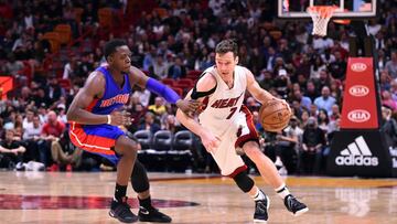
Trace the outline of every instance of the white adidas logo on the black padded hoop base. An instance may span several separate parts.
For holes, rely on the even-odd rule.
[[[378,158],[373,157],[363,136],[357,137],[354,142],[350,143],[346,149],[342,150],[341,156],[335,158],[335,162],[339,166],[363,167],[376,167],[379,163]]]

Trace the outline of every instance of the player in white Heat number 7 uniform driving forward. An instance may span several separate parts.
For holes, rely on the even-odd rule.
[[[204,71],[186,96],[186,99],[197,99],[203,105],[198,122],[181,110],[178,110],[176,118],[200,136],[222,174],[233,178],[238,188],[254,199],[255,222],[267,222],[270,201],[247,175],[247,166],[239,156],[242,152],[255,162],[261,177],[281,196],[288,211],[293,215],[309,211],[305,204],[290,194],[273,162],[260,151],[253,115],[243,105],[246,89],[262,104],[275,97],[259,87],[249,70],[237,65],[237,44],[234,41],[222,41],[216,45],[215,53],[216,65]],[[285,100],[282,103],[287,104]]]

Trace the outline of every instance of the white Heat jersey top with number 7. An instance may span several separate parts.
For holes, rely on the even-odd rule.
[[[238,116],[245,116],[240,113],[240,108],[247,88],[247,72],[243,66],[235,67],[232,88],[222,79],[215,66],[208,67],[204,73],[212,74],[217,85],[215,92],[204,99],[206,107],[198,115],[198,121],[221,137],[228,128],[236,125],[234,121]]]

